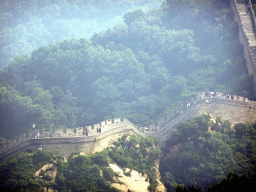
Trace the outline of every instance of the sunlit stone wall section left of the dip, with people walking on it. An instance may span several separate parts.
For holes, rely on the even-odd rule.
[[[92,134],[91,136],[82,135],[82,128],[66,129],[65,132],[63,130],[55,130],[54,133],[51,130],[44,130],[41,134],[43,137],[37,139],[34,139],[34,137],[27,138],[22,135],[20,137],[22,142],[13,141],[7,148],[0,150],[0,161],[8,159],[25,149],[34,150],[42,148],[42,150],[51,151],[66,157],[79,152],[85,154],[93,153],[106,148],[111,140],[115,140],[125,133],[142,134],[127,119],[114,119],[113,121],[105,122],[106,124],[100,123],[100,125],[104,125],[104,132],[101,134]],[[23,140],[23,137],[25,137],[25,140]]]

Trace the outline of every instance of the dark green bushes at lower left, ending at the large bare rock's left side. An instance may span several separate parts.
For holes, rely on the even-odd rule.
[[[0,166],[2,191],[44,191],[44,187],[59,191],[119,191],[107,182],[112,180],[114,172],[108,168],[107,156],[103,154],[78,156],[67,163],[63,157],[55,154],[36,151],[22,152]],[[54,163],[58,173],[52,181],[49,169],[41,171],[39,176],[35,172],[46,163]],[[100,176],[100,170],[104,177]],[[68,178],[68,179],[66,179]]]

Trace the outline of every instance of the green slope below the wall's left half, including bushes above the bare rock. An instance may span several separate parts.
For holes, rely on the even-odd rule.
[[[121,168],[137,170],[147,174],[150,189],[157,186],[155,161],[162,152],[155,147],[155,140],[148,137],[123,135],[113,145],[96,154],[74,154],[68,162],[63,157],[45,151],[24,151],[0,165],[1,191],[43,191],[44,187],[58,191],[111,191],[118,192],[112,183],[119,177],[109,167],[116,163]],[[52,164],[39,175],[35,172],[45,164]],[[50,171],[57,170],[55,178]],[[130,172],[127,173],[129,175]]]

